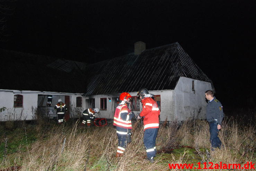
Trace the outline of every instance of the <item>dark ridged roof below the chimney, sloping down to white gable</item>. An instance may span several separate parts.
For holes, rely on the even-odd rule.
[[[87,66],[90,82],[84,95],[173,90],[180,77],[211,82],[178,42]]]

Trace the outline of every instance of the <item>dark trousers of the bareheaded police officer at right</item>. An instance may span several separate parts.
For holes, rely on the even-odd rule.
[[[213,148],[221,148],[221,141],[218,137],[219,130],[217,129],[217,124],[216,123],[210,123],[210,142],[211,142],[211,147]]]

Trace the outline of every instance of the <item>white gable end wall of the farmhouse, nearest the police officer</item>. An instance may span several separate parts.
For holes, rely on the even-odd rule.
[[[195,91],[192,90],[192,81],[194,81]],[[204,119],[206,112],[205,91],[211,89],[209,82],[180,77],[173,92],[176,106],[174,119],[178,121],[193,118]]]

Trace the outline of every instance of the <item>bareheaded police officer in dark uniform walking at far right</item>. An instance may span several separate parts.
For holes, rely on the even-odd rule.
[[[211,150],[214,151],[214,148],[221,148],[222,146],[218,133],[221,129],[221,122],[224,118],[224,113],[222,104],[214,97],[214,92],[212,90],[205,91],[205,98],[208,100],[206,107],[206,120],[210,124]]]

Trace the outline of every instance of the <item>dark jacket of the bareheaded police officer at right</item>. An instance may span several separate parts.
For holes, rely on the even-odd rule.
[[[221,124],[224,118],[222,104],[219,100],[213,97],[212,101],[208,101],[206,107],[206,120],[208,122],[216,121],[217,124]]]

